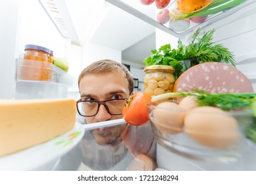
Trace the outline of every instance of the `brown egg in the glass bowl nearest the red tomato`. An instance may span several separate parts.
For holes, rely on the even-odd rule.
[[[183,131],[185,112],[176,103],[163,102],[153,110],[152,123],[161,132],[176,134]]]

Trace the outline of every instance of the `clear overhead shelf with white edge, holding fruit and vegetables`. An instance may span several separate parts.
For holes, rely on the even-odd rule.
[[[241,11],[243,8],[248,7],[249,5],[251,5],[252,3],[255,3],[255,1],[253,0],[247,0],[244,3],[237,5],[236,7],[233,7],[232,9],[229,9],[228,11],[223,11],[223,12],[219,12],[217,14],[211,14],[207,17],[207,19],[200,23],[194,23],[192,21],[190,21],[190,27],[184,31],[175,31],[172,30],[170,28],[168,28],[168,23],[166,24],[160,24],[159,22],[157,22],[156,20],[156,14],[157,12],[155,12],[155,14],[149,14],[149,9],[156,9],[155,5],[142,5],[140,3],[140,1],[138,1],[138,4],[132,4],[132,2],[127,1],[127,0],[105,0],[109,3],[111,3],[112,5],[115,5],[116,7],[140,18],[141,20],[151,24],[152,26],[155,26],[155,28],[158,28],[159,30],[162,30],[164,32],[166,32],[167,34],[173,35],[174,37],[184,37],[185,35],[188,35],[192,32],[194,32],[197,28],[205,28],[206,26],[209,26],[210,24],[213,24],[215,22],[222,22],[221,20],[223,18],[226,18],[228,16],[233,16],[234,13],[236,13],[237,11]],[[166,9],[171,10],[174,9],[174,7],[176,7],[176,3],[175,1],[172,1],[168,7],[166,7]],[[160,11],[160,9],[156,9],[157,11]]]

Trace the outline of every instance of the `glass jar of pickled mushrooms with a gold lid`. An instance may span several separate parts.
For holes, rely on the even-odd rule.
[[[166,65],[152,65],[144,69],[144,91],[152,96],[172,92],[174,86],[174,68]]]

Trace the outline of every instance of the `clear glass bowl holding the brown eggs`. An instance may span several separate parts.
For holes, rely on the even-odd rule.
[[[147,109],[157,143],[179,155],[200,159],[236,158],[251,147],[245,133],[253,123],[249,109],[193,114],[189,110],[150,104]]]

